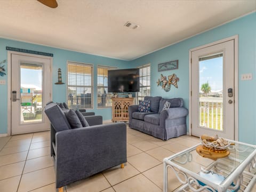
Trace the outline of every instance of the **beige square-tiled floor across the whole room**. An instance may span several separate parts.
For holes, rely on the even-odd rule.
[[[183,135],[162,141],[127,127],[127,163],[77,181],[65,191],[163,191],[163,158],[199,142]],[[0,191],[51,192],[55,189],[50,132],[0,138]],[[180,186],[169,171],[169,191]],[[256,191],[256,187],[254,188]]]

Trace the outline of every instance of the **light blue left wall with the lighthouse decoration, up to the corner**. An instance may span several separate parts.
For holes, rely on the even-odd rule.
[[[129,62],[110,59],[106,57],[100,57],[96,55],[90,55],[85,53],[78,53],[73,51],[55,49],[53,47],[35,45],[30,43],[23,43],[18,41],[11,41],[9,39],[0,38],[0,61],[7,59],[6,46],[17,47],[21,49],[41,51],[47,53],[53,53],[53,70],[52,70],[52,80],[53,80],[53,101],[55,102],[66,102],[66,89],[67,84],[55,85],[54,83],[58,81],[57,71],[61,68],[62,81],[66,83],[66,69],[67,61],[76,61],[91,63],[94,65],[94,109],[88,111],[95,111],[95,114],[102,115],[103,120],[111,119],[111,108],[97,109],[97,65],[103,66],[114,66],[118,68],[129,68]],[[5,64],[5,69],[7,64]],[[1,65],[2,66],[2,65]],[[7,71],[8,73],[8,71]],[[7,75],[4,77],[0,76],[0,79],[5,79],[6,85],[0,85],[0,134],[7,133]]]

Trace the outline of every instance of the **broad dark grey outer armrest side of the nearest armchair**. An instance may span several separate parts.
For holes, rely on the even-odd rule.
[[[127,162],[125,123],[60,131],[55,137],[57,188]]]

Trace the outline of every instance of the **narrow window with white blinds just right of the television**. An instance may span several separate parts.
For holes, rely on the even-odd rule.
[[[150,96],[150,65],[139,67],[140,69],[140,92],[138,93],[138,101]]]

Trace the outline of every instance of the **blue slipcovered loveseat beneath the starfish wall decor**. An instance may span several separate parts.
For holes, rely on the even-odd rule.
[[[129,107],[129,126],[132,129],[153,135],[162,140],[187,134],[186,116],[188,110],[183,106],[182,98],[164,99],[145,97],[150,101],[150,111],[139,112],[138,105]],[[169,109],[163,109],[164,103],[170,102]]]

